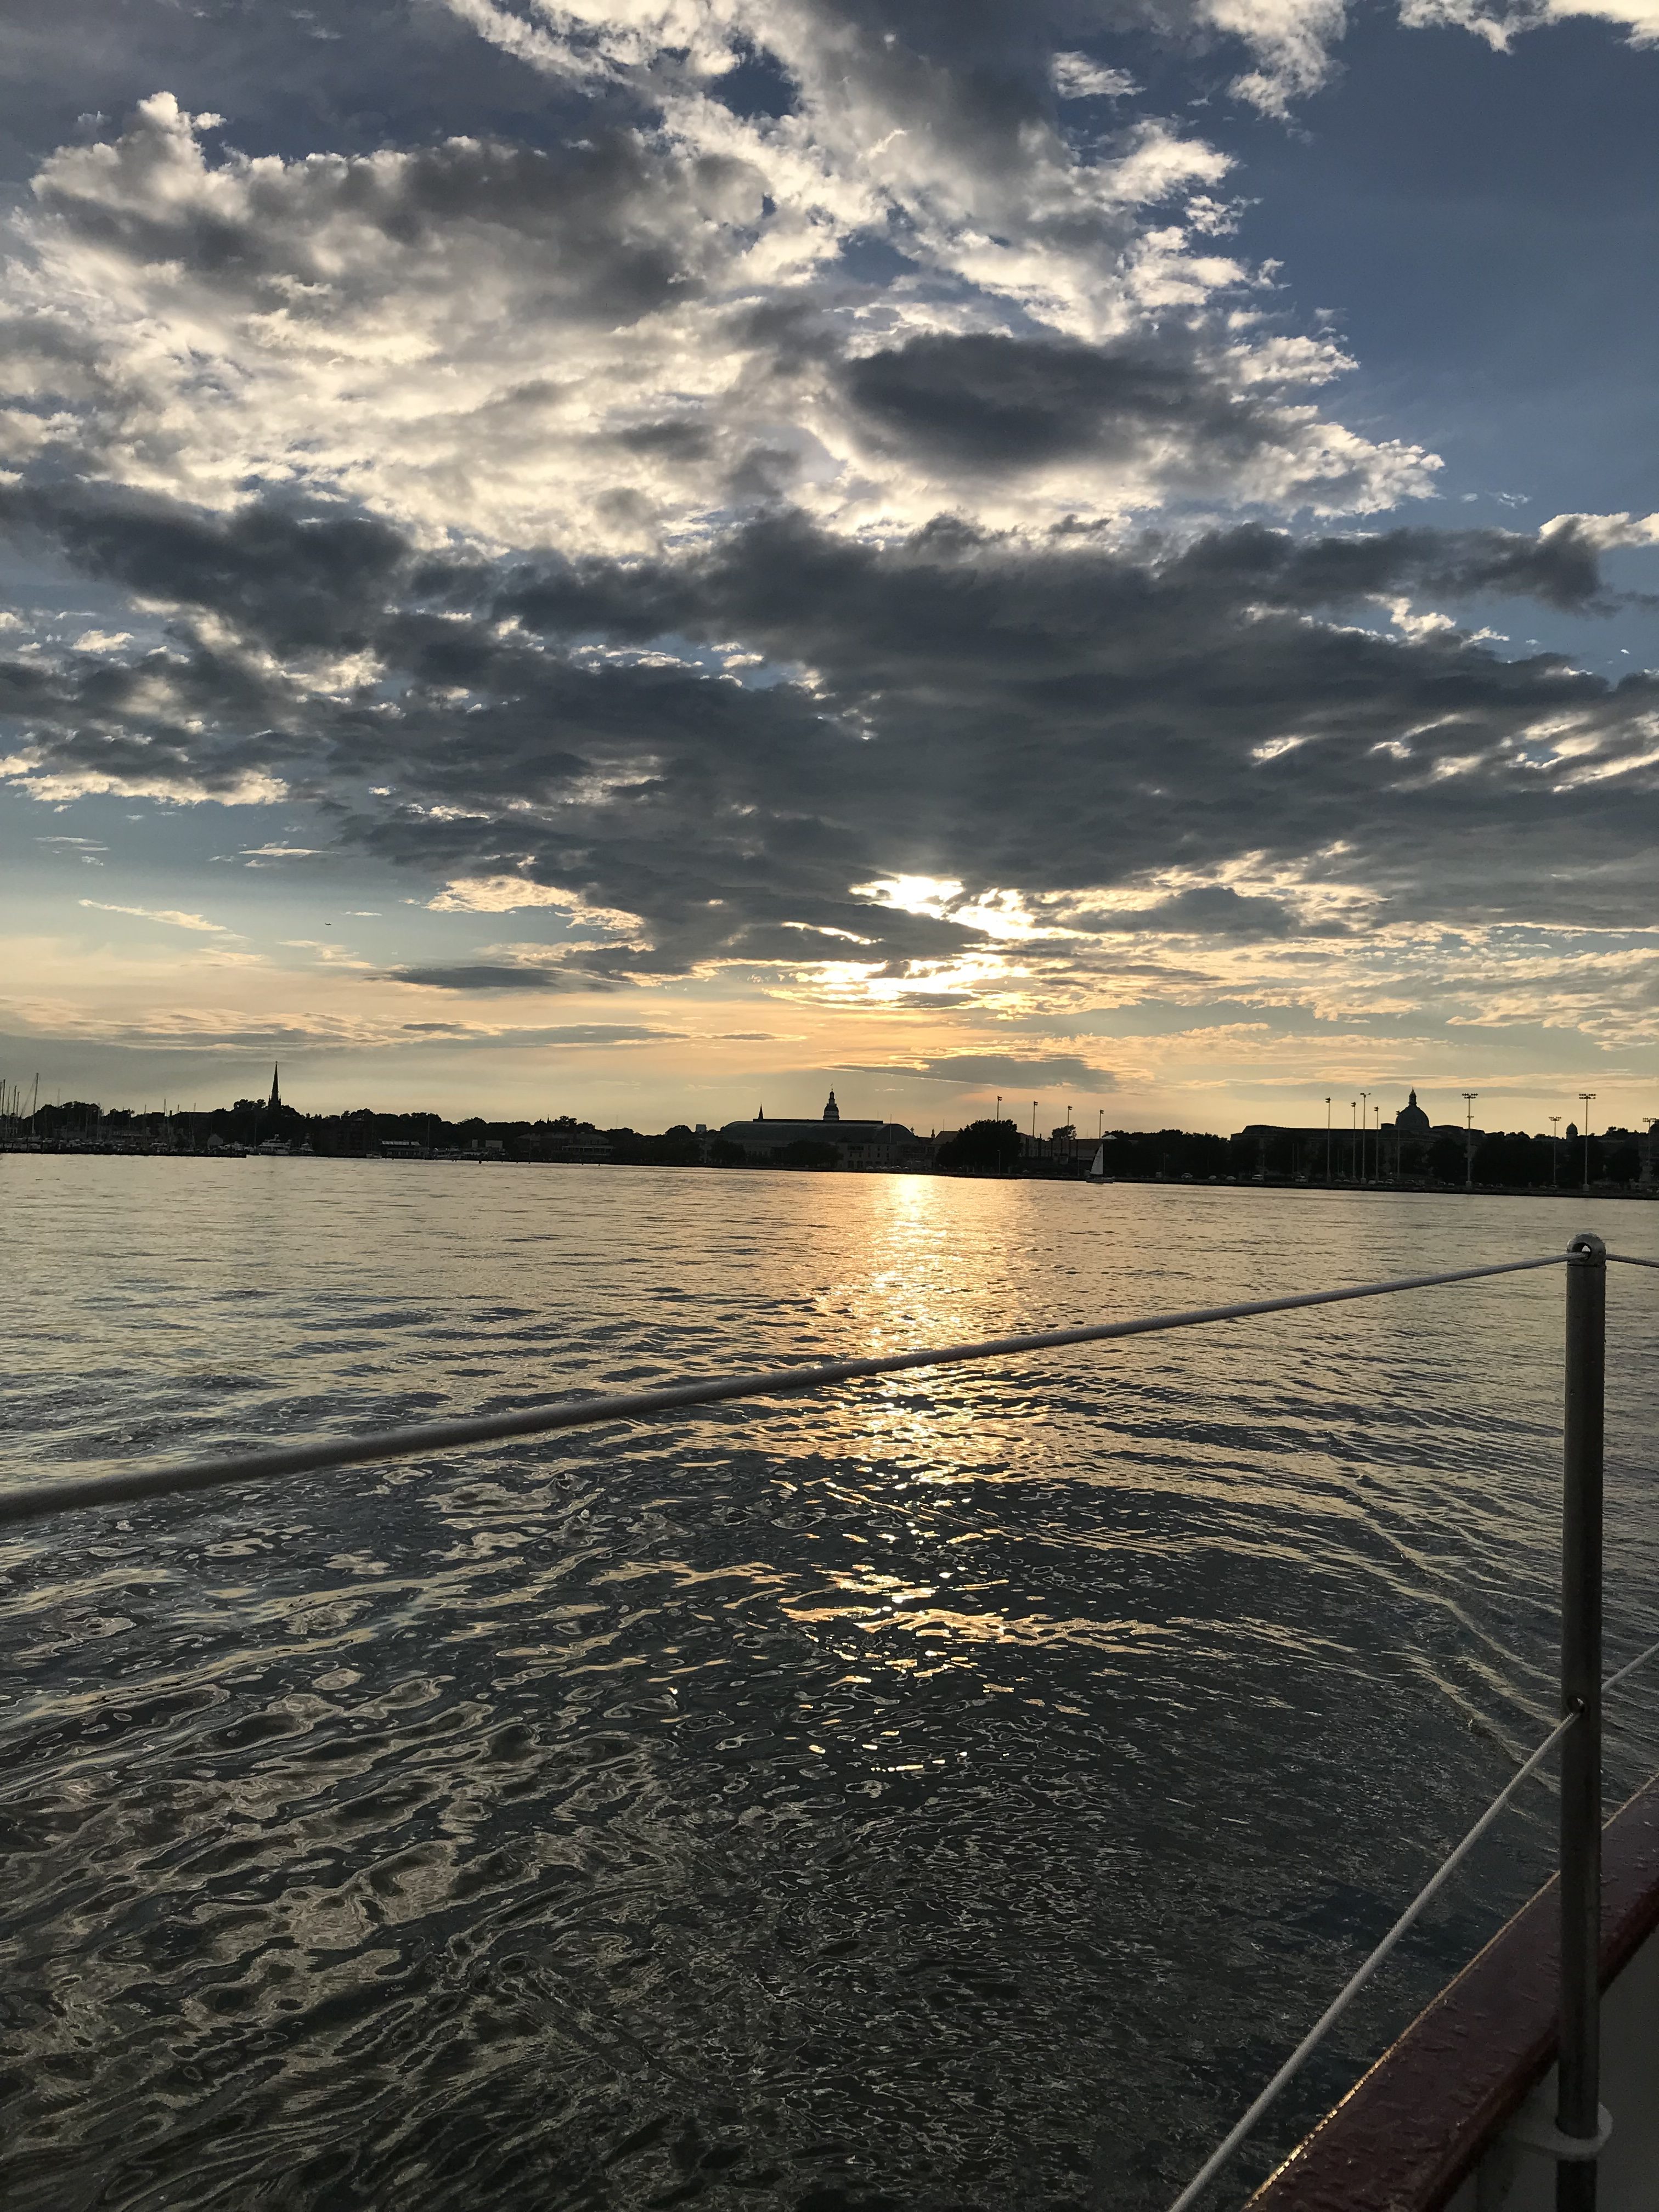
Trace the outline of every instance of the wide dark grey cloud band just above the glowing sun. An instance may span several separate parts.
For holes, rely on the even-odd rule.
[[[1177,896],[1079,925],[1276,936],[1279,896],[1203,880],[1243,856],[1411,918],[1652,918],[1659,684],[1327,619],[1427,588],[1593,606],[1573,531],[1243,529],[1133,553],[958,524],[883,549],[781,518],[679,560],[493,573],[343,518],[131,500],[93,518],[82,498],[62,518],[77,560],[153,591],[166,575],[181,611],[173,646],[133,666],[0,670],[40,774],[281,776],[425,880],[518,878],[641,918],[626,945],[562,947],[557,971],[411,982],[538,991],[701,960],[905,978],[991,942],[971,914],[852,891],[907,874],[1044,898],[1175,869]],[[29,520],[46,526],[46,504]],[[192,599],[243,644],[192,635]],[[748,688],[688,661],[734,641],[812,681]],[[296,644],[361,646],[383,677],[290,684],[268,655]],[[1020,958],[1071,953],[1035,940]]]

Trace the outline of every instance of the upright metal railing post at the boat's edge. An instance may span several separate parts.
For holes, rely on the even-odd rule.
[[[1555,2126],[1601,2132],[1601,1407],[1608,1254],[1568,1245],[1562,1489],[1562,2026]],[[1555,2212],[1595,2212],[1595,2157],[1555,2168]]]

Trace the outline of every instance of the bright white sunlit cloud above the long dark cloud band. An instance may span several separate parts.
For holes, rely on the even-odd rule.
[[[708,31],[701,62],[688,22]],[[779,498],[902,531],[940,478],[947,504],[960,489],[1004,524],[1117,515],[1170,487],[1321,511],[1425,487],[1431,456],[1310,403],[1345,365],[1327,343],[1256,330],[1261,274],[1221,250],[1228,157],[1150,115],[1068,137],[1015,11],[984,15],[982,53],[940,46],[920,11],[916,44],[807,4],[560,24],[571,82],[597,69],[606,113],[555,146],[246,157],[164,91],[51,153],[11,263],[27,405],[0,416],[0,460],[226,511],[248,487],[349,500],[434,546],[462,531],[613,551]],[[520,29],[544,58],[551,33]],[[741,51],[796,86],[790,115],[714,97]],[[1068,82],[1095,69],[1066,64]],[[854,274],[878,234],[914,285]],[[942,376],[925,349],[949,338],[984,356],[958,358],[964,405],[991,378],[1018,407],[1020,363],[984,354],[998,343],[1031,341],[1051,418],[1082,394],[1093,436],[1064,482],[987,476],[982,451],[940,440],[914,467],[885,436],[894,409],[927,411],[900,385]],[[296,635],[345,535],[314,531],[310,575],[294,571]],[[230,533],[223,555],[228,597],[261,549]]]

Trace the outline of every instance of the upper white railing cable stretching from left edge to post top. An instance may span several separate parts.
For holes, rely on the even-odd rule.
[[[310,1475],[327,1467],[356,1467],[369,1460],[407,1460],[429,1451],[456,1451],[462,1444],[489,1444],[513,1436],[549,1436],[555,1429],[588,1429],[599,1422],[639,1420],[650,1413],[672,1413],[690,1405],[719,1405],[730,1398],[787,1398],[796,1391],[825,1389],[832,1383],[905,1374],[914,1367],[953,1367],[962,1360],[989,1360],[1015,1352],[1055,1352],[1064,1345],[1104,1345],[1124,1336],[1152,1336],[1159,1329],[1194,1329],[1210,1321],[1250,1321],[1256,1314],[1294,1314],[1310,1305],[1387,1298],[1400,1290],[1436,1290],[1444,1283],[1475,1283],[1491,1274],[1526,1274],[1533,1267],[1559,1267],[1564,1261],[1566,1252],[1546,1252],[1540,1259],[1509,1259],[1489,1267],[1451,1267],[1444,1274],[1400,1274],[1383,1283],[1352,1283],[1343,1290],[1303,1290],[1287,1298],[1245,1298],[1237,1305],[1194,1305],[1179,1314],[1141,1314],[1137,1321],[1097,1321],[1077,1329],[991,1336],[973,1345],[883,1352],[860,1360],[781,1367],[772,1374],[708,1376],[703,1383],[670,1383],[664,1389],[628,1391],[619,1398],[562,1398],[557,1405],[529,1407],[518,1413],[473,1413],[462,1420],[420,1422],[409,1429],[383,1429],[372,1436],[290,1444],[279,1451],[243,1451],[219,1460],[195,1460],[184,1467],[139,1467],[113,1475],[22,1482],[15,1489],[0,1491],[0,1526],[42,1520],[49,1513],[69,1513],[77,1506],[131,1504],[139,1498],[212,1491],[230,1482],[261,1482],[274,1475]]]

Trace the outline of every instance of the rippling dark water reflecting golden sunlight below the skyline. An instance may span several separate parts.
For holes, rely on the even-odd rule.
[[[18,1475],[1557,1250],[1659,1210],[0,1161]],[[1613,1272],[1610,1648],[1659,1632]],[[1553,1703],[1555,1272],[0,1548],[0,2188],[1168,2201]],[[1659,1763],[1646,1697],[1610,1796]],[[1511,1816],[1237,2203],[1548,1867]]]

